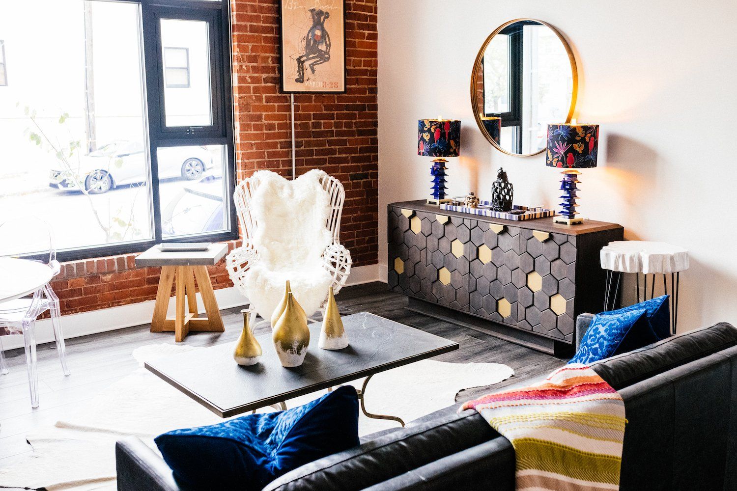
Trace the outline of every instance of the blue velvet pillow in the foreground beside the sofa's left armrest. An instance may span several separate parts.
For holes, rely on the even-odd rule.
[[[356,389],[342,386],[294,409],[170,431],[155,441],[182,484],[261,490],[303,464],[359,445]]]

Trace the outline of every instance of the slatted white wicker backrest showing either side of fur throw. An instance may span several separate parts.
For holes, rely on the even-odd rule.
[[[320,183],[329,196],[330,215],[325,226],[330,230],[332,240],[340,243],[340,217],[343,215],[343,202],[346,201],[346,191],[343,184],[335,177],[325,175]],[[256,228],[259,226],[251,214],[251,199],[256,189],[259,188],[261,180],[258,174],[247,177],[238,183],[233,194],[235,208],[238,213],[238,221],[243,229],[243,239],[253,239]]]

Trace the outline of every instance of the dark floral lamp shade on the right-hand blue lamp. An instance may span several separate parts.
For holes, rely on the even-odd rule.
[[[545,165],[562,169],[596,166],[598,124],[548,124]]]

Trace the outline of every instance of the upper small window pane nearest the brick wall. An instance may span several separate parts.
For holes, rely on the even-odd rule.
[[[161,19],[161,45],[189,51],[189,86],[164,88],[164,110],[168,127],[210,126],[209,24],[206,21]],[[164,56],[166,49],[164,48]],[[181,77],[181,75],[179,76]]]

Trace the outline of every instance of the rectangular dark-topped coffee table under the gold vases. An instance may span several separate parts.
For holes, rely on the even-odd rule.
[[[458,349],[456,342],[368,312],[343,317],[343,326],[349,347],[321,350],[321,324],[312,323],[307,356],[296,368],[282,367],[270,334],[256,336],[264,354],[252,367],[235,363],[233,343],[166,356],[144,365],[220,417],[280,403],[284,409],[284,400],[366,377],[359,392],[363,414],[404,426],[399,417],[366,411],[363,399],[371,376]]]

